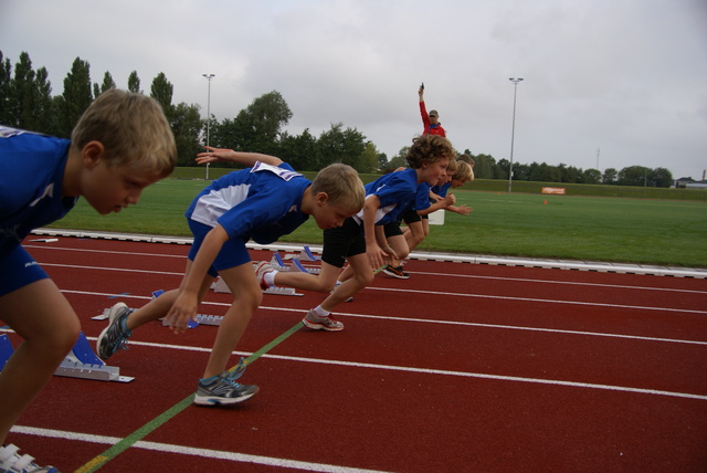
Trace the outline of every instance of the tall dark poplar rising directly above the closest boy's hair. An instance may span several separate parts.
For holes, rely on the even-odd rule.
[[[60,137],[68,138],[71,132],[78,122],[88,105],[93,102],[91,95],[91,65],[81,57],[74,60],[71,72],[64,78],[64,92],[57,97]]]

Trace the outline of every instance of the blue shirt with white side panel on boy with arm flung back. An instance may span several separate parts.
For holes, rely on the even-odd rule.
[[[309,216],[302,197],[312,182],[287,162],[230,172],[203,189],[186,217],[204,225],[220,224],[229,238],[267,244],[292,233]]]

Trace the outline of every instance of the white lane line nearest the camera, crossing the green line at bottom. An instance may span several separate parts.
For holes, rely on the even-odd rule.
[[[70,432],[64,430],[54,429],[39,429],[34,427],[14,425],[10,429],[14,433],[23,433],[27,435],[36,435],[51,439],[64,439],[87,443],[99,443],[106,445],[115,445],[123,439],[117,437],[95,435],[91,433]],[[160,442],[146,442],[140,440],[131,445],[131,448],[165,452],[177,453],[181,455],[202,456],[213,460],[229,460],[238,463],[255,463],[260,465],[278,466],[286,469],[303,470],[308,472],[321,472],[321,473],[383,473],[379,470],[363,470],[349,466],[338,466],[326,463],[310,463],[302,462],[297,460],[279,459],[275,456],[251,455],[246,453],[226,452],[222,450],[211,449],[194,449],[192,446],[176,445],[171,443]]]

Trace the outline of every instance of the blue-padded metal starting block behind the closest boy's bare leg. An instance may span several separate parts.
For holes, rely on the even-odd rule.
[[[0,368],[4,368],[6,362],[12,356],[14,349],[7,335],[0,335]],[[135,378],[130,376],[120,376],[120,368],[107,366],[101,358],[93,353],[86,335],[83,332],[78,334],[78,339],[72,350],[61,362],[55,376],[65,376],[68,378],[96,379],[99,381],[119,381],[130,382]]]

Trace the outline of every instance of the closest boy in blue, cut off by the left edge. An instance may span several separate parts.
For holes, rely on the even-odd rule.
[[[78,317],[21,245],[84,197],[107,214],[136,204],[171,174],[175,138],[150,97],[107,91],[84,112],[71,141],[0,126],[0,318],[24,341],[0,374],[0,443],[78,337]],[[0,448],[0,471],[34,471],[30,455]],[[56,471],[46,466],[42,471]]]

